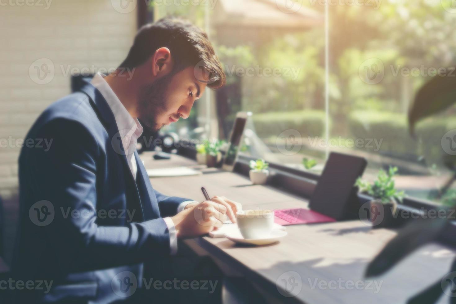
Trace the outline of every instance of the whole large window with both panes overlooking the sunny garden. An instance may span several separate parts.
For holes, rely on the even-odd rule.
[[[451,1],[212,2],[155,7],[156,17],[205,28],[228,77],[175,126],[181,135],[226,139],[236,113],[251,111],[245,155],[315,173],[331,151],[359,155],[368,180],[397,166],[408,196],[454,200],[444,135],[456,129],[456,109],[422,121],[416,138],[407,120],[420,87],[456,65]]]

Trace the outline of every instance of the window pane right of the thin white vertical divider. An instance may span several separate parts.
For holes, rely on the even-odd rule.
[[[440,0],[368,2],[329,6],[331,149],[365,157],[365,179],[397,166],[408,196],[448,202],[456,192],[441,141],[454,110],[418,124],[416,139],[408,111],[430,77],[455,66],[456,11]]]

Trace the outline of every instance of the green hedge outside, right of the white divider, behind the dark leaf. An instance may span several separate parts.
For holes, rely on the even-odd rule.
[[[404,114],[376,111],[354,111],[348,118],[348,126],[353,138],[383,139],[378,153],[406,160],[425,157],[428,164],[440,163],[442,136],[455,123],[450,119],[427,119],[416,127],[417,139],[409,134],[407,116]],[[370,151],[373,149],[362,148]]]

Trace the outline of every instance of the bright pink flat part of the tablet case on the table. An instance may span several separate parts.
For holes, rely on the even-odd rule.
[[[275,210],[274,215],[274,222],[282,226],[336,222],[332,217],[303,208]]]

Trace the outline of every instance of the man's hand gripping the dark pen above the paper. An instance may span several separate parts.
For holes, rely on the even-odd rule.
[[[227,207],[213,201],[203,201],[171,217],[177,237],[196,237],[222,227]],[[231,212],[233,212],[230,209]]]

